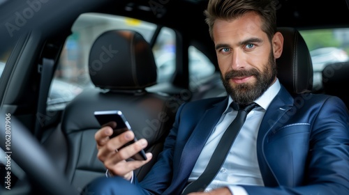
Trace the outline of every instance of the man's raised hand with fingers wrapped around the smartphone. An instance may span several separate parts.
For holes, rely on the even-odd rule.
[[[112,124],[112,127],[116,124]],[[133,140],[135,134],[132,131],[126,131],[119,136],[110,139],[112,135],[112,127],[106,126],[98,130],[95,134],[95,139],[97,143],[98,154],[97,157],[104,166],[112,173],[114,176],[121,176],[126,180],[131,180],[133,176],[133,170],[140,168],[147,162],[151,160],[151,153],[147,153],[147,160],[132,160],[126,161],[140,150],[147,147],[147,140],[140,139],[135,143],[121,148],[128,141]],[[119,149],[121,148],[121,149]]]

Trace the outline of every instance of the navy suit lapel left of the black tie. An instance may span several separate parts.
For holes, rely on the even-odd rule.
[[[218,123],[223,111],[225,111],[227,104],[228,98],[225,98],[222,102],[214,104],[211,109],[207,109],[205,114],[202,115],[198,125],[195,127],[191,137],[189,137],[184,146],[178,166],[179,169],[177,172],[174,172],[174,179],[166,192],[171,192],[171,190],[181,190],[184,188],[202,148],[204,148],[209,135],[214,129],[216,123]],[[173,187],[176,189],[172,189]]]

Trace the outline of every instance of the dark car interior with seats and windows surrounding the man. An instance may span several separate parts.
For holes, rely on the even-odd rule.
[[[147,139],[154,157],[136,171],[142,180],[179,106],[226,95],[207,2],[0,1],[0,194],[88,194],[106,171],[94,140],[101,110],[121,110]],[[348,107],[349,1],[276,3],[281,84]],[[311,50],[334,46],[344,57],[316,69]]]

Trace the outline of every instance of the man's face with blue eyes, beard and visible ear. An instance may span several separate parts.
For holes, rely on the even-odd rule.
[[[260,17],[253,12],[214,23],[214,44],[223,85],[239,104],[259,98],[276,78],[275,59],[281,55],[282,36],[277,33],[270,42],[261,25]]]

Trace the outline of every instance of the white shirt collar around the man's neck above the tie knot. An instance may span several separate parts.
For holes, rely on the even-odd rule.
[[[270,86],[265,93],[263,93],[260,98],[255,100],[257,104],[260,105],[263,109],[267,110],[269,107],[269,104],[272,102],[272,100],[275,98],[275,96],[279,93],[281,88],[281,84],[278,78],[276,78],[276,81],[272,86]],[[225,112],[228,111],[228,108],[230,107],[230,104],[232,103],[232,97],[229,95],[228,105],[225,109]]]

